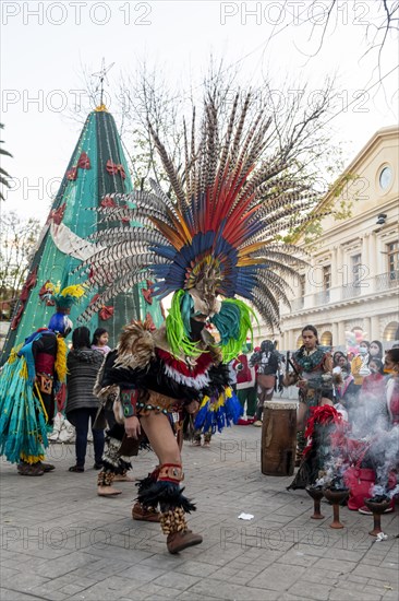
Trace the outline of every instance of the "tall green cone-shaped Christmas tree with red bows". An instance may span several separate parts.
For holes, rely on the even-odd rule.
[[[86,238],[102,227],[98,213],[90,209],[107,205],[107,195],[130,191],[132,181],[116,122],[101,105],[86,119],[41,231],[5,339],[2,363],[13,346],[36,329],[48,325],[55,307],[41,300],[46,283],[60,283],[61,287],[80,283],[81,276],[72,272],[90,254],[90,243]],[[97,327],[106,328],[112,345],[121,328],[132,319],[149,317],[159,326],[162,321],[161,308],[147,294],[149,285],[144,282],[129,294],[120,294],[93,316],[87,323],[92,333]],[[92,300],[93,293],[72,308],[71,319],[75,326],[76,318]]]

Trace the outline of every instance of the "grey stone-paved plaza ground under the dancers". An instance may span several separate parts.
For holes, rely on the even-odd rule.
[[[1,463],[2,601],[188,599],[295,601],[398,600],[398,506],[382,517],[388,539],[368,535],[371,516],[341,508],[346,528],[332,530],[331,507],[312,520],[304,491],[291,478],[261,473],[261,428],[234,426],[211,446],[183,449],[186,494],[197,503],[191,528],[203,544],[167,552],[159,525],[131,519],[135,486],[96,495],[92,448],[85,473],[70,473],[73,445],[53,445],[56,471],[23,478]],[[142,478],[155,466],[135,460]],[[251,521],[238,519],[252,514]]]

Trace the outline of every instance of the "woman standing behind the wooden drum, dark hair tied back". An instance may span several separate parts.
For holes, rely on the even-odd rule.
[[[319,345],[314,326],[303,328],[302,340],[302,346],[291,357],[294,372],[289,372],[288,365],[283,378],[283,386],[297,385],[299,388],[297,466],[301,462],[305,447],[304,429],[310,408],[334,404],[331,354]]]

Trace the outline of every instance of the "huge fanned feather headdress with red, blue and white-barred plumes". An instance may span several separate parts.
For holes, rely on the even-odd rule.
[[[183,291],[176,313],[185,333],[184,314],[194,310],[214,316],[222,344],[231,343],[245,310],[251,325],[235,296],[250,300],[268,326],[278,327],[279,300],[288,303],[286,278],[297,276],[303,261],[277,234],[309,219],[315,195],[295,177],[288,148],[270,153],[271,119],[263,111],[253,115],[251,94],[241,107],[239,99],[238,94],[225,129],[215,99],[205,102],[200,140],[194,111],[191,135],[184,125],[181,174],[149,125],[171,197],[150,180],[152,192],[110,195],[107,207],[97,209],[104,221],[119,225],[92,237],[94,254],[80,267],[87,269],[88,283],[101,290],[84,319],[147,279],[155,281],[152,294],[158,298]]]

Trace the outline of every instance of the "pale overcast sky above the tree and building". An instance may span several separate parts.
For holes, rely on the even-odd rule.
[[[133,72],[143,60],[159,66],[172,85],[200,86],[210,54],[233,64],[244,85],[265,78],[277,90],[285,80],[299,87],[309,82],[310,94],[336,74],[341,106],[331,121],[332,141],[349,163],[377,129],[398,122],[397,39],[387,37],[380,67],[383,75],[391,73],[383,86],[375,85],[377,52],[362,56],[379,0],[339,2],[337,20],[316,52],[328,4],[321,0],[311,11],[310,0],[3,0],[2,140],[13,158],[2,166],[15,177],[7,210],[41,221],[47,216],[82,127],[70,118],[83,94],[82,66],[98,71],[102,57],[106,64],[114,62],[111,89],[120,73]]]

